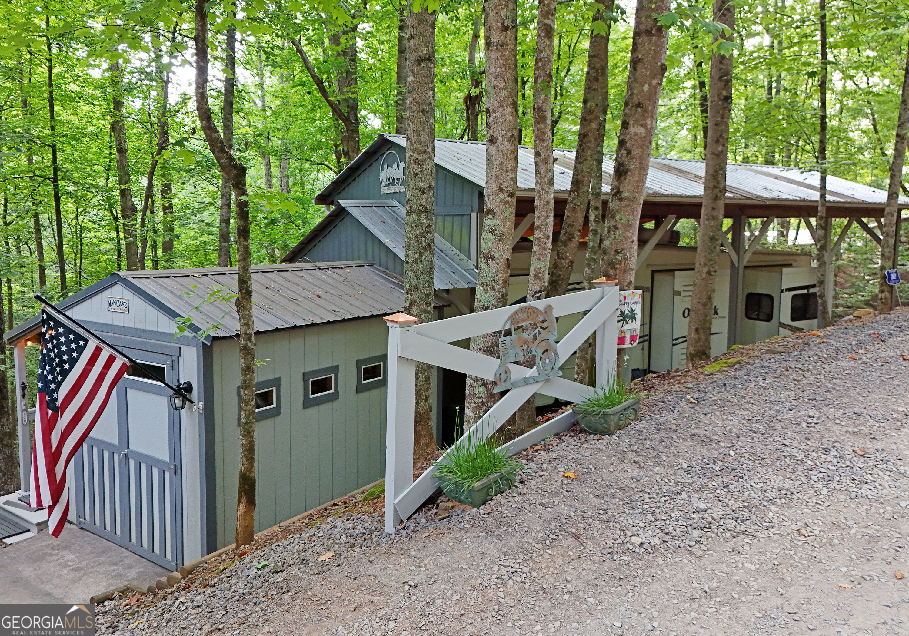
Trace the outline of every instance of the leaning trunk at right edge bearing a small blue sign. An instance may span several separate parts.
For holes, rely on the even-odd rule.
[[[889,312],[894,306],[894,288],[887,283],[886,271],[896,269],[899,264],[899,243],[896,240],[896,223],[900,217],[897,204],[900,199],[900,184],[903,182],[903,165],[906,157],[906,141],[909,136],[909,48],[903,71],[903,93],[900,110],[896,118],[894,139],[894,160],[890,164],[890,184],[887,186],[887,202],[884,204],[884,235],[881,237],[881,271],[877,281],[877,309]]]

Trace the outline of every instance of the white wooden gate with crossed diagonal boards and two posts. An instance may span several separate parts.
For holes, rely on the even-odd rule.
[[[433,323],[416,324],[405,313],[388,316],[388,412],[385,450],[385,532],[407,519],[438,488],[433,471],[414,481],[414,400],[416,363],[435,364],[485,380],[494,379],[499,366],[496,358],[454,346],[454,341],[483,333],[498,332],[505,321],[522,306],[543,310],[552,305],[555,317],[586,312],[558,343],[559,360],[564,363],[587,337],[596,332],[596,384],[603,386],[615,369],[616,315],[619,289],[615,281],[601,278],[594,289],[545,298],[524,305],[501,307],[488,312],[469,313]],[[509,364],[513,378],[533,373],[517,364]],[[484,440],[517,411],[534,393],[545,393],[568,402],[580,402],[593,393],[593,388],[562,377],[517,386],[495,403],[469,433],[474,440]],[[454,446],[464,443],[466,433]],[[447,454],[447,453],[446,453]]]

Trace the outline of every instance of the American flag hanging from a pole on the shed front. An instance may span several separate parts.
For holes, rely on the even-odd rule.
[[[46,308],[41,326],[31,505],[47,508],[48,529],[59,537],[69,512],[66,467],[129,363]]]

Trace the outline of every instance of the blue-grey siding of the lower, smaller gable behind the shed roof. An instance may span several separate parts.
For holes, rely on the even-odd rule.
[[[355,216],[346,211],[337,223],[322,233],[315,245],[305,253],[302,261],[306,263],[369,261],[389,272],[404,275],[404,261],[357,221]]]

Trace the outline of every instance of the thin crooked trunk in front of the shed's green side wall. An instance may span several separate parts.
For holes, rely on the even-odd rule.
[[[208,104],[208,14],[205,0],[195,0],[195,110],[221,171],[234,189],[236,207],[236,313],[240,322],[240,470],[236,492],[237,546],[253,542],[255,523],[255,325],[253,274],[249,250],[249,200],[246,166],[236,160],[215,127]]]

